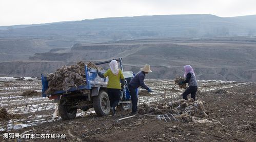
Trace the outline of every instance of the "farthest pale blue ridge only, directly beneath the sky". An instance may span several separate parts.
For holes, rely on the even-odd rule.
[[[100,18],[0,27],[0,37],[65,37],[105,42],[160,37],[255,36],[255,19],[256,15],[224,18],[209,14]]]

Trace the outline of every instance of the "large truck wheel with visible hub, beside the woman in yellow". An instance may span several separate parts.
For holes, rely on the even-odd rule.
[[[93,97],[93,107],[98,116],[109,114],[110,101],[105,91],[100,91],[98,96]]]

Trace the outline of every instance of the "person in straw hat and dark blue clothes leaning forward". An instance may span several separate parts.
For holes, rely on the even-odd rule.
[[[150,70],[150,65],[148,64],[144,65],[144,67],[141,68],[141,71],[137,73],[128,84],[128,89],[130,91],[131,102],[132,102],[132,112],[131,112],[132,114],[137,114],[138,98],[136,94],[136,88],[139,88],[141,86],[142,88],[148,90],[148,92],[152,92],[152,90],[144,84],[144,79],[146,74],[151,72],[152,71]]]

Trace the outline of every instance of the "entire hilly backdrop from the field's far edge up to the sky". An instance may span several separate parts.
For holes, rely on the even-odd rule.
[[[154,15],[0,27],[0,76],[40,76],[77,61],[123,58],[152,79],[183,66],[200,80],[256,81],[256,15]]]

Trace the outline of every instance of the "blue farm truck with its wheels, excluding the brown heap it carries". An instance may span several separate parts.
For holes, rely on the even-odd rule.
[[[123,71],[122,58],[115,59],[120,63],[120,67]],[[111,60],[105,62],[95,63],[95,65],[101,65],[110,63]],[[106,70],[102,70],[105,73]],[[134,73],[123,72],[125,77],[125,88],[121,91],[119,109],[128,110],[131,109],[131,99],[128,91],[127,84],[133,78]],[[108,78],[100,78],[97,75],[95,68],[88,68],[85,66],[86,84],[72,87],[68,91],[57,90],[51,94],[47,94],[48,89],[47,78],[42,74],[42,96],[54,99],[55,103],[58,103],[58,111],[62,120],[74,119],[77,113],[77,109],[87,111],[89,108],[94,108],[98,116],[108,115],[110,112],[110,101],[107,94]]]

